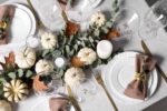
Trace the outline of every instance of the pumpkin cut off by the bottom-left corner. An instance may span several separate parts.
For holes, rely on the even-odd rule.
[[[0,111],[11,111],[11,105],[4,100],[0,100]]]

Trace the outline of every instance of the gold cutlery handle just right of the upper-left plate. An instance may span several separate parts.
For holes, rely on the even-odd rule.
[[[38,27],[39,27],[39,28],[45,28],[45,24],[43,24],[43,23],[39,20],[39,18],[37,17],[37,13],[36,13],[36,11],[35,11],[35,8],[33,8],[32,3],[31,3],[31,0],[27,0],[27,2],[28,2],[29,7],[30,7],[30,10],[32,11],[32,13],[33,13],[33,16],[35,16],[35,18],[36,18],[36,21],[38,22]]]

